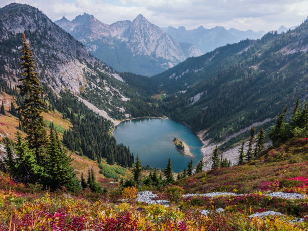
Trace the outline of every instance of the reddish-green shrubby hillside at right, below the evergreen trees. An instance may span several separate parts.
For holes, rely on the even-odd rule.
[[[198,173],[177,181],[186,193],[285,191],[307,193],[308,138],[288,141],[260,158],[229,168]],[[294,179],[293,179],[294,178]],[[287,180],[293,179],[293,180]]]

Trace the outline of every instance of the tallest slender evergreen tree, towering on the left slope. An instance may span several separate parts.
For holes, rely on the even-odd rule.
[[[23,48],[21,50],[23,56],[21,59],[21,66],[23,69],[22,82],[19,85],[20,94],[23,97],[23,105],[18,109],[22,114],[22,125],[24,131],[27,133],[27,140],[30,148],[35,149],[37,163],[40,163],[40,152],[47,143],[45,122],[42,112],[46,111],[46,106],[42,99],[44,94],[38,80],[38,73],[34,71],[36,68],[36,60],[30,48],[25,34],[23,34]]]

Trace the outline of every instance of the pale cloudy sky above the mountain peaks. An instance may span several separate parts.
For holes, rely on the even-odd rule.
[[[0,0],[0,7],[12,1]],[[308,16],[307,0],[14,0],[42,10],[53,21],[84,12],[110,24],[143,14],[160,26],[224,26],[240,30],[277,30],[299,25]]]

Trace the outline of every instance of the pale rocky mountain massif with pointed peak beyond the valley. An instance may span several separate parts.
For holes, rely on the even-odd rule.
[[[143,75],[160,73],[187,57],[199,56],[197,46],[179,43],[143,15],[107,25],[84,13],[72,21],[55,21],[83,43],[89,52],[117,71]]]

